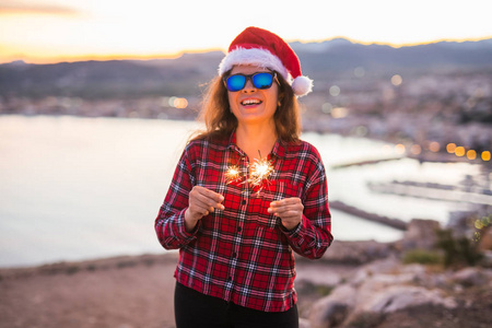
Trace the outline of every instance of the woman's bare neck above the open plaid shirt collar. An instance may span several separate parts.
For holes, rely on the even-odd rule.
[[[274,124],[239,125],[236,129],[237,145],[248,155],[249,161],[266,159],[277,141]]]

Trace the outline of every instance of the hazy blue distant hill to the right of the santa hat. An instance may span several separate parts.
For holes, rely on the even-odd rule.
[[[461,70],[492,68],[492,39],[480,42],[441,42],[394,48],[387,45],[361,45],[347,39],[318,44],[294,43],[303,70],[316,74],[340,73],[363,67],[366,71]]]

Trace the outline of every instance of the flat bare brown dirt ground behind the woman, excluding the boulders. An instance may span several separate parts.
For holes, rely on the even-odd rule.
[[[174,327],[177,254],[0,270],[0,328]],[[298,261],[300,312],[353,267]],[[306,294],[303,298],[302,293]],[[305,308],[305,307],[304,307]]]

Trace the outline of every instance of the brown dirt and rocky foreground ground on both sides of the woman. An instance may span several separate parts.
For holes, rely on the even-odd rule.
[[[492,270],[403,265],[397,244],[297,259],[302,328],[489,327]],[[174,327],[176,253],[0,270],[0,327]]]

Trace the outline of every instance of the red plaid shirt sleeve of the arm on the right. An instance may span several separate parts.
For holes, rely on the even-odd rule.
[[[316,166],[303,200],[302,222],[292,231],[281,227],[294,251],[311,259],[320,258],[333,241],[325,167],[320,161]]]

